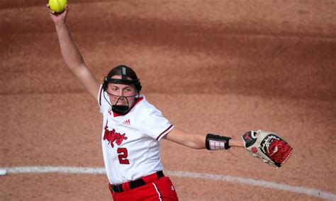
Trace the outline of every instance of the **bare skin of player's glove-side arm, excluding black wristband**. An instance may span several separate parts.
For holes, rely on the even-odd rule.
[[[176,142],[193,149],[206,149],[206,137],[207,136],[204,134],[191,134],[174,127],[173,130],[164,136],[164,139],[168,139],[169,141]],[[240,137],[231,137],[230,140],[228,140],[228,146],[244,148],[244,142]],[[223,149],[224,148],[225,147],[223,147]]]

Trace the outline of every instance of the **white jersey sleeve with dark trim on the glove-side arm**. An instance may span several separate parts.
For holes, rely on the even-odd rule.
[[[145,113],[141,125],[144,134],[158,141],[174,128],[169,120],[162,116],[162,112],[156,108]]]

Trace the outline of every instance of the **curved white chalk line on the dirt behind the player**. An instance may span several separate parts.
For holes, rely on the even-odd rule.
[[[28,167],[3,167],[7,173],[84,173],[84,174],[105,174],[105,168],[82,168],[82,167],[53,167],[53,166],[28,166]],[[283,183],[274,183],[265,180],[256,180],[251,178],[241,178],[236,176],[223,176],[209,173],[193,173],[189,171],[164,171],[169,176],[201,178],[206,180],[220,180],[244,185],[257,185],[262,188],[271,188],[276,190],[285,190],[293,193],[301,193],[313,197],[320,197],[327,200],[336,200],[336,195],[315,188],[306,188],[303,186],[293,186]]]

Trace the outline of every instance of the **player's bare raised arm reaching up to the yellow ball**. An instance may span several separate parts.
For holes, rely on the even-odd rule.
[[[48,6],[48,5],[47,5]],[[72,35],[67,27],[67,13],[69,7],[65,7],[62,13],[55,13],[50,10],[50,17],[55,23],[57,38],[60,42],[60,49],[63,59],[67,67],[74,73],[74,75],[83,84],[86,91],[88,91],[94,98],[99,93],[99,81],[97,81],[87,69],[82,54],[79,52],[77,45],[72,39]]]

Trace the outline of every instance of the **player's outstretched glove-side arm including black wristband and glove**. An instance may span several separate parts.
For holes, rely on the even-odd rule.
[[[245,148],[252,156],[263,162],[280,168],[293,153],[293,148],[279,134],[268,131],[249,131],[239,139],[215,134],[190,134],[174,127],[164,136],[172,142],[194,149],[230,149],[230,147]]]

